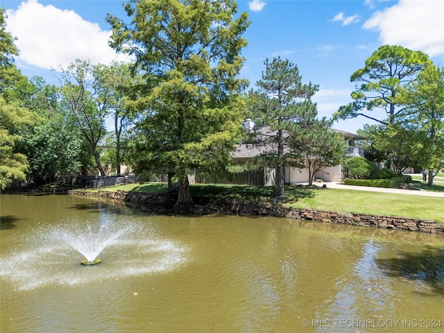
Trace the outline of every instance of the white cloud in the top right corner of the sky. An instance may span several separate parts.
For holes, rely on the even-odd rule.
[[[379,31],[382,44],[401,45],[429,56],[444,54],[444,2],[400,0],[362,26]]]

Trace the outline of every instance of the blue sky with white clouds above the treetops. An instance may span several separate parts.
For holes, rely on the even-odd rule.
[[[19,69],[27,76],[43,76],[56,83],[51,68],[66,67],[76,58],[109,63],[117,56],[107,45],[110,12],[125,17],[119,0],[11,1],[7,30],[17,37]],[[332,117],[351,101],[355,83],[350,75],[383,44],[427,53],[444,66],[444,1],[442,0],[250,0],[238,1],[251,25],[244,34],[248,46],[241,75],[254,87],[264,71],[264,60],[288,58],[299,67],[302,82],[317,84],[314,96],[320,117]],[[360,117],[334,123],[334,128],[356,132]]]

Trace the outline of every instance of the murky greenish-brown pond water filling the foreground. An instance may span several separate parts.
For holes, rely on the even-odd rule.
[[[440,235],[0,200],[1,332],[444,332]]]

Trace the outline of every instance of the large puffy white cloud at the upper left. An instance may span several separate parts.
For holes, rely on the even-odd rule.
[[[17,10],[7,11],[8,31],[17,37],[17,58],[25,65],[43,69],[67,67],[76,59],[108,64],[125,60],[108,46],[111,31],[85,21],[73,10],[43,6],[37,0],[22,2]]]

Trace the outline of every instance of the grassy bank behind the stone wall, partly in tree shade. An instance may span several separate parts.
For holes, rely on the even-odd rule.
[[[193,196],[207,196],[227,201],[250,201],[256,203],[280,203],[274,197],[276,187],[248,187],[238,185],[191,185]],[[167,193],[167,184],[130,184],[102,188],[105,191],[140,191],[144,193]],[[350,212],[382,216],[411,217],[437,221],[444,224],[443,198],[389,194],[350,189],[314,189],[307,187],[286,187],[287,207]]]

